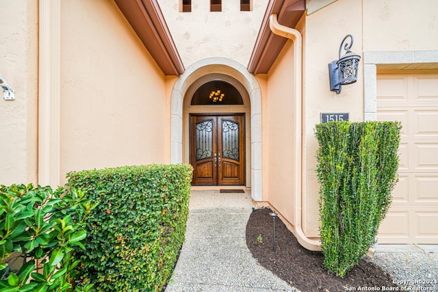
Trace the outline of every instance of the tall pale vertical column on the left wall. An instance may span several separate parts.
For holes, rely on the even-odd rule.
[[[60,184],[61,1],[39,1],[38,183]]]

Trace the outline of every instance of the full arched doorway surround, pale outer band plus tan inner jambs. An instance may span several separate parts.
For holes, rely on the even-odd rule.
[[[231,83],[239,90],[244,99],[243,107],[245,107],[245,127],[247,129],[245,141],[247,149],[245,156],[246,186],[251,187],[253,199],[261,201],[261,90],[255,77],[242,64],[231,59],[223,57],[201,59],[190,65],[175,82],[171,96],[171,163],[190,162],[188,127],[189,114],[194,114],[194,108],[187,108],[191,106],[188,101],[191,101],[196,88],[214,79]],[[203,105],[197,107],[203,107]],[[199,109],[201,113],[210,112],[210,114],[218,113],[219,108],[217,110],[211,108]],[[240,112],[242,112],[241,109]]]

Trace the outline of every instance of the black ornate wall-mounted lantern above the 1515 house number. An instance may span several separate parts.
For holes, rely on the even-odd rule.
[[[350,43],[346,42],[347,38],[350,38]],[[341,85],[347,85],[357,81],[357,71],[359,70],[361,56],[350,51],[353,41],[353,37],[348,34],[339,46],[339,60],[329,64],[330,90],[335,91],[336,94],[341,92]],[[346,54],[341,57],[342,44],[344,44],[344,42]]]

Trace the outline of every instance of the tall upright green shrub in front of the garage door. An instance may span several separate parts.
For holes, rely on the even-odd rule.
[[[398,181],[399,122],[329,122],[315,135],[324,266],[344,277],[375,243]]]

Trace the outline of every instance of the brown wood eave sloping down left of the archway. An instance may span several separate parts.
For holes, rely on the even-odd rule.
[[[165,75],[185,68],[157,0],[114,0]]]

